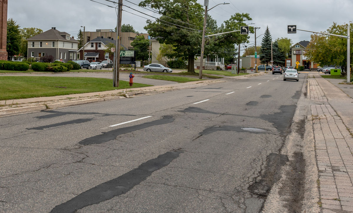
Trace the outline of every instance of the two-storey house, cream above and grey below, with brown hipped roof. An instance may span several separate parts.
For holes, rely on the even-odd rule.
[[[78,41],[67,32],[60,32],[55,27],[27,39],[27,57],[38,60],[44,55],[52,55],[54,60],[76,60]]]

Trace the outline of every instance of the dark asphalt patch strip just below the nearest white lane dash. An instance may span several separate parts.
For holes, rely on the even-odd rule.
[[[144,129],[144,128],[148,128],[150,126],[171,123],[174,120],[175,119],[173,118],[173,116],[163,116],[163,118],[159,119],[159,120],[154,120],[151,122],[138,124],[135,126],[128,126],[128,127],[124,127],[124,128],[120,128],[120,129],[114,129],[114,130],[110,130],[108,132],[102,132],[103,134],[86,138],[86,139],[80,141],[79,144],[90,145],[90,144],[105,143],[105,142],[114,140],[116,138],[116,136],[118,136],[118,135],[126,134],[129,132],[133,132],[133,131]]]

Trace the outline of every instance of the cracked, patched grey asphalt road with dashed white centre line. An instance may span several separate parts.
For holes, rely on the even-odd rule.
[[[0,212],[260,212],[305,75],[2,117]]]

